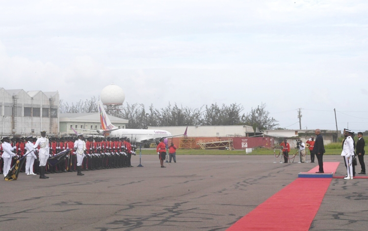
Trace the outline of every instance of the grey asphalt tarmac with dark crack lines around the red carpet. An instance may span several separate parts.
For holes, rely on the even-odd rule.
[[[335,175],[346,174],[341,156],[324,161],[340,162]],[[177,156],[160,168],[158,155],[142,155],[144,167],[136,167],[137,155],[132,168],[85,176],[43,180],[20,173],[0,182],[0,230],[224,231],[317,165],[273,162],[273,156]],[[366,230],[367,191],[368,179],[333,179],[310,230]],[[285,195],[285,203],[297,196]],[[293,214],[280,216],[293,222]]]

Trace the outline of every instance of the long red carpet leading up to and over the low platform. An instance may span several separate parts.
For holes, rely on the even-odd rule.
[[[323,165],[325,172],[335,172],[339,162]],[[332,178],[298,178],[227,231],[308,231],[331,181]]]

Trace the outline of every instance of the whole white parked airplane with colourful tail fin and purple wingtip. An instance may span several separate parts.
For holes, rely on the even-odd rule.
[[[152,143],[158,141],[161,138],[166,139],[170,137],[186,136],[186,131],[188,130],[188,127],[186,127],[184,134],[173,136],[171,135],[171,133],[164,130],[118,128],[111,124],[110,119],[108,118],[105,112],[102,102],[98,103],[98,108],[102,129],[97,131],[89,129],[81,129],[81,130],[95,131],[101,136],[111,138],[127,137],[131,139],[131,143]]]

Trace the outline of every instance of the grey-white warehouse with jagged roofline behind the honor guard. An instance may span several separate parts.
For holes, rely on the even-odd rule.
[[[0,88],[1,136],[59,133],[59,92]]]

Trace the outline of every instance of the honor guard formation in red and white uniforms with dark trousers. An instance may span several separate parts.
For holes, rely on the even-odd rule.
[[[48,159],[58,153],[70,149],[71,151],[51,165]],[[12,138],[3,137],[0,144],[0,172],[4,177],[10,167],[26,155],[26,164],[21,172],[27,175],[39,174],[41,179],[47,179],[48,173],[75,172],[84,175],[81,171],[132,167],[131,155],[135,154],[136,146],[131,145],[129,138],[100,138],[88,137],[84,140],[83,134],[77,137],[46,137],[46,131],[41,132],[40,138],[32,136]],[[28,153],[29,152],[29,153]]]

